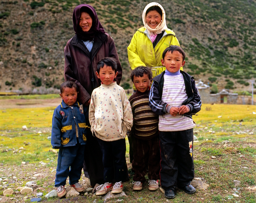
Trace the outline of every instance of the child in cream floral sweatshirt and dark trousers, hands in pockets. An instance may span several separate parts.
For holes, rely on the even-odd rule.
[[[104,195],[110,190],[113,194],[120,193],[122,181],[129,179],[125,136],[131,130],[133,117],[124,89],[113,82],[117,74],[117,64],[112,58],[98,62],[96,75],[101,86],[91,95],[89,121],[102,151],[105,184],[96,188],[96,195]]]

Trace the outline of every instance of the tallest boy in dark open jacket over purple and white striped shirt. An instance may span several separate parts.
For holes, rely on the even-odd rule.
[[[190,185],[194,178],[192,115],[201,110],[201,100],[195,80],[180,70],[185,64],[185,52],[170,46],[162,55],[166,70],[154,77],[149,106],[159,115],[161,154],[160,181],[167,198],[175,197],[176,187],[188,194],[196,189]]]

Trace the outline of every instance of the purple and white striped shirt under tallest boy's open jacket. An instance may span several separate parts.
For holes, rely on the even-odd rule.
[[[168,74],[168,73],[167,73]],[[182,102],[188,98],[185,89],[184,78],[180,71],[172,74],[164,74],[162,101],[171,107],[180,107]],[[180,131],[195,127],[193,119],[183,115],[172,116],[164,114],[159,116],[159,131]]]

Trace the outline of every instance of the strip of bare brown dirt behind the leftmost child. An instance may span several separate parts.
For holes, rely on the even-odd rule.
[[[38,108],[57,107],[61,102],[59,99],[1,99],[0,109],[6,108]]]

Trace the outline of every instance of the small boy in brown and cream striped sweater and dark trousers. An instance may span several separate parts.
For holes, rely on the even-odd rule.
[[[158,189],[160,170],[160,152],[158,135],[158,115],[148,105],[148,94],[152,83],[152,72],[145,66],[139,66],[131,73],[131,79],[137,91],[129,98],[132,108],[133,190],[141,190],[146,181],[148,169],[148,189]]]

